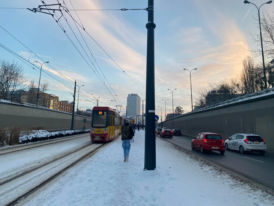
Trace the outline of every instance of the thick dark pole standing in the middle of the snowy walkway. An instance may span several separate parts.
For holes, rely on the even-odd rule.
[[[147,53],[146,53],[146,128],[144,170],[156,168],[155,141],[155,62],[154,62],[154,0],[148,0]]]

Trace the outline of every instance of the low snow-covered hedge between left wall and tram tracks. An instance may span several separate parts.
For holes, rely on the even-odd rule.
[[[29,134],[29,135],[24,135],[19,137],[19,144],[55,139],[55,138],[60,138],[64,136],[72,136],[76,134],[84,134],[88,132],[90,132],[90,130],[84,130],[84,131],[83,130],[67,130],[67,131],[50,132],[50,133],[37,132],[35,134]]]

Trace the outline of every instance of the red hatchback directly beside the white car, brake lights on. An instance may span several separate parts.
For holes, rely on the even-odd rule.
[[[201,132],[192,139],[192,150],[199,149],[202,153],[205,151],[219,151],[221,155],[225,154],[225,144],[221,135],[210,132]]]

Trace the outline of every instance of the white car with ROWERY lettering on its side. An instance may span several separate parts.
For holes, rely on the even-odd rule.
[[[265,140],[256,134],[233,134],[225,140],[225,149],[238,150],[242,154],[246,151],[255,151],[260,155],[267,151]]]

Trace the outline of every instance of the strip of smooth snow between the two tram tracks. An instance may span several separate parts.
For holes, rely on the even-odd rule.
[[[8,177],[15,176],[26,169],[32,169],[54,158],[76,150],[83,145],[90,144],[87,134],[65,142],[58,142],[41,147],[1,155],[0,157],[0,182]]]

